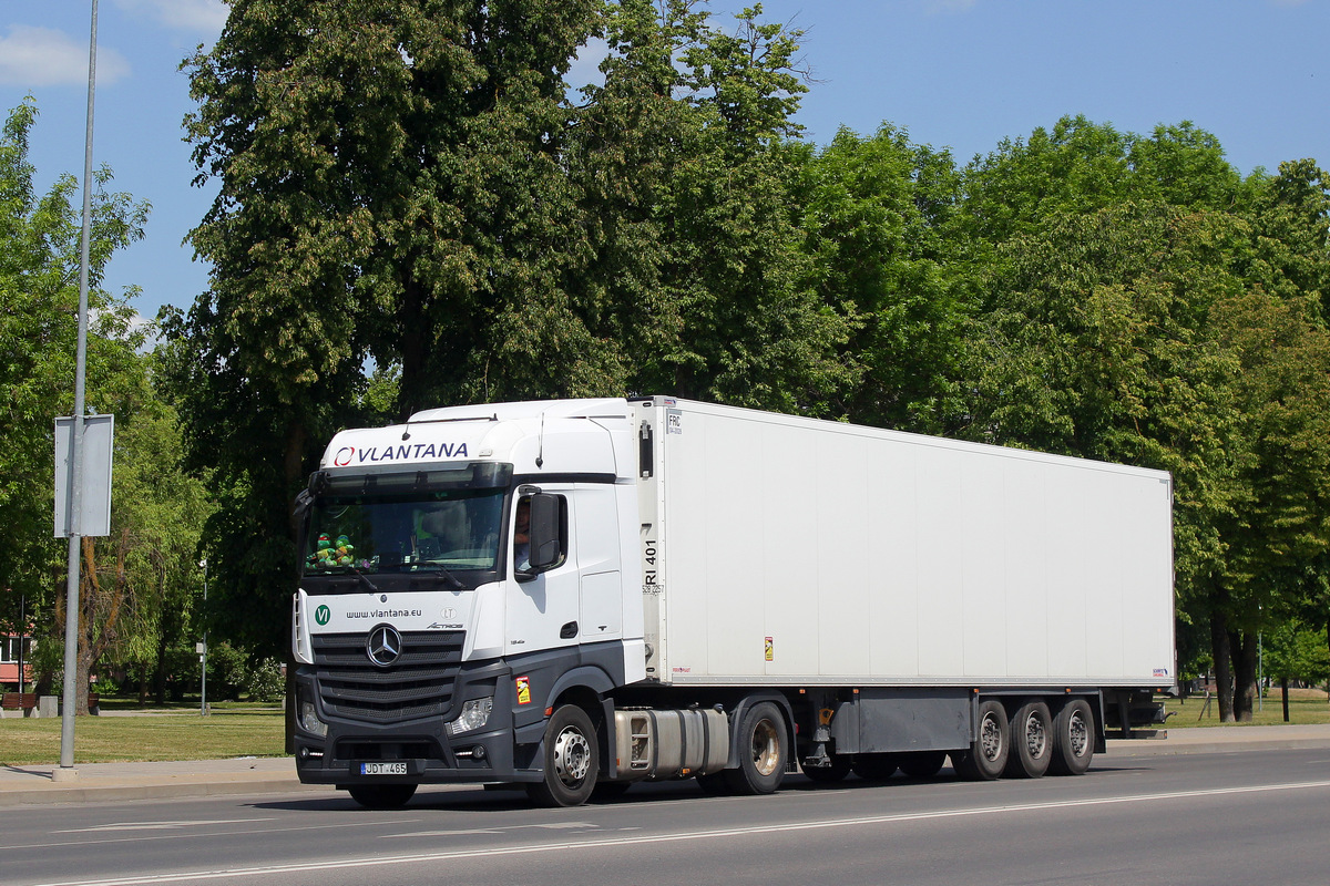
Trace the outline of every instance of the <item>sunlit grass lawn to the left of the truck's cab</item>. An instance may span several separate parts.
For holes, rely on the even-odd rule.
[[[137,707],[137,705],[136,705]],[[74,762],[219,760],[285,753],[282,712],[185,709],[146,716],[77,717]],[[0,765],[60,762],[60,717],[0,720]]]

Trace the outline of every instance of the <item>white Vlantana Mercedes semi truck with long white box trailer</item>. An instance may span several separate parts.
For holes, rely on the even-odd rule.
[[[669,397],[344,430],[298,502],[297,769],[1079,774],[1176,684],[1166,473]]]

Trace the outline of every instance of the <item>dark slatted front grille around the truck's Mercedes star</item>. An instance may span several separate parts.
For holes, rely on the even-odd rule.
[[[380,668],[366,654],[364,634],[314,635],[314,667],[323,708],[364,723],[443,716],[462,664],[466,631],[402,635],[402,655]]]

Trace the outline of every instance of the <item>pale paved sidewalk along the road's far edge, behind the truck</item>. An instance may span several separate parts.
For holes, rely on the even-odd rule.
[[[1289,748],[1330,749],[1330,725],[1198,727],[1170,729],[1166,739],[1108,743],[1104,760],[1177,753],[1225,753]],[[116,802],[218,794],[326,793],[302,785],[291,757],[239,757],[185,762],[90,762],[73,780],[56,781],[60,766],[0,766],[0,806]]]

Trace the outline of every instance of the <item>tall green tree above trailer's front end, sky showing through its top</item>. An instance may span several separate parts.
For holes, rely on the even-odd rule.
[[[571,163],[597,234],[588,313],[632,355],[620,391],[822,412],[849,327],[791,209],[802,35],[759,16],[724,31],[688,0],[610,8]]]

